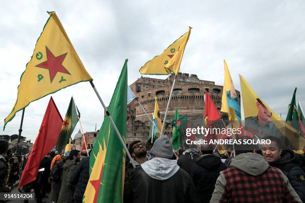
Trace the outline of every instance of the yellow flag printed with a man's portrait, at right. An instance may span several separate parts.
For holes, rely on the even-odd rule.
[[[263,102],[241,75],[240,86],[245,113],[245,129],[249,134],[259,138],[267,135],[284,135],[289,140],[288,147],[300,150],[305,147],[305,139],[300,136],[300,132],[282,120]]]

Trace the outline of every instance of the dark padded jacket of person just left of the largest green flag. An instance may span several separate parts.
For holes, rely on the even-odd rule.
[[[90,156],[84,157],[70,178],[70,183],[76,185],[73,200],[77,202],[82,202],[89,181],[89,159]]]

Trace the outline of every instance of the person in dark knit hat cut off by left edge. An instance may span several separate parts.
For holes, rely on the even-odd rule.
[[[5,139],[0,139],[0,193],[6,192],[3,188],[3,182],[7,175],[7,163],[4,159],[4,154],[8,149],[8,142]]]

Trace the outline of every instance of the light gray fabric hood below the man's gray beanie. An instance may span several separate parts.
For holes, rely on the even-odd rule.
[[[179,170],[177,160],[170,160],[164,158],[153,158],[141,164],[142,169],[151,178],[164,181],[175,175]]]

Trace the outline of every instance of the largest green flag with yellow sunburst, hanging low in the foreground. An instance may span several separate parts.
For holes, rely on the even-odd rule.
[[[126,140],[127,128],[127,61],[108,108],[123,140]],[[83,203],[123,202],[125,151],[108,116],[94,142],[89,173]]]

